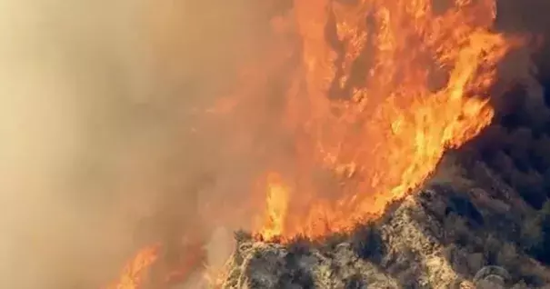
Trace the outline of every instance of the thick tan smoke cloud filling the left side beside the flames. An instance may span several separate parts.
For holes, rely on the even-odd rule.
[[[194,120],[262,48],[265,15],[224,3],[0,1],[0,287],[99,287],[170,216],[245,198],[254,164]]]

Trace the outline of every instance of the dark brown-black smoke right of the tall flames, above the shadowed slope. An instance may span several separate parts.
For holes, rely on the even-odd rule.
[[[550,3],[501,0],[497,8],[497,29],[527,36],[527,43],[501,67],[500,81],[508,85],[493,97],[494,123],[473,147],[477,158],[540,209],[550,197]]]

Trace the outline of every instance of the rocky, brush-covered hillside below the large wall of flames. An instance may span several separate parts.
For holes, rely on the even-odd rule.
[[[550,206],[536,211],[485,164],[457,154],[353,234],[287,245],[235,234],[224,288],[469,288],[487,265],[505,268],[514,288],[550,284],[534,258],[548,242]]]

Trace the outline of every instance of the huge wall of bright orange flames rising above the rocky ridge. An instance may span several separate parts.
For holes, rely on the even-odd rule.
[[[292,195],[268,195],[259,234],[274,238],[273,220],[285,224],[282,238],[349,230],[490,124],[495,66],[516,42],[491,30],[494,0],[455,0],[445,11],[434,3],[294,1],[287,21],[302,63],[293,81],[305,89],[287,90],[284,125],[296,181],[285,184]],[[320,169],[339,185],[336,197],[315,184]]]

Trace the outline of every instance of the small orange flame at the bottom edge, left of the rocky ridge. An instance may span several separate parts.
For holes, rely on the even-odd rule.
[[[158,249],[158,245],[151,245],[139,250],[135,257],[125,265],[119,280],[115,284],[107,286],[107,289],[140,288],[149,268],[158,258]]]

